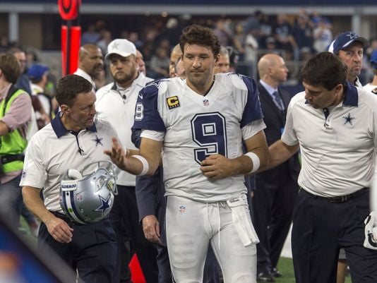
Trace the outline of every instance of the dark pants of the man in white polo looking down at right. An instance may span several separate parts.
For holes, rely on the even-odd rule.
[[[335,283],[345,248],[353,283],[377,282],[377,251],[364,248],[369,190],[344,203],[300,191],[294,208],[292,254],[297,283]]]

